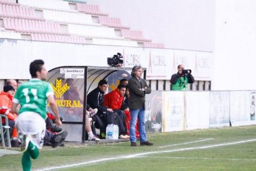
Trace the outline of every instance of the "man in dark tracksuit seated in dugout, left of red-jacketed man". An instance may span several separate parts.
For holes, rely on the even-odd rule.
[[[108,82],[106,80],[100,80],[98,83],[98,87],[91,91],[87,95],[87,104],[90,106],[90,108],[98,109],[98,117],[100,118],[100,121],[102,122],[102,127],[99,127],[97,121],[95,122],[95,127],[100,128],[101,136],[105,136],[106,132],[106,126],[108,124],[115,124],[120,123],[117,120],[120,120],[119,116],[116,113],[113,113],[113,110],[110,108],[106,108],[106,106],[103,105],[103,96],[106,92],[106,88],[108,87]],[[119,127],[119,133],[125,133],[125,128],[122,124],[118,125]]]

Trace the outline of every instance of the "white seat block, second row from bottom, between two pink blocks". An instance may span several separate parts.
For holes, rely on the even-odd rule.
[[[123,37],[117,37],[115,35],[115,30],[113,28],[108,27],[68,24],[68,32],[73,35],[85,37],[123,39]]]

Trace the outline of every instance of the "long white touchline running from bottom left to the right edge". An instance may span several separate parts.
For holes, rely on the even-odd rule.
[[[256,139],[243,140],[243,141],[237,141],[237,142],[229,142],[229,143],[222,143],[222,144],[215,144],[215,145],[207,145],[207,146],[199,146],[199,147],[180,148],[180,149],[173,149],[173,150],[167,150],[167,151],[155,151],[155,152],[137,153],[137,154],[128,155],[128,156],[118,156],[118,157],[112,157],[112,158],[108,158],[108,159],[104,158],[104,159],[98,159],[98,160],[91,160],[91,161],[87,161],[87,162],[81,162],[81,163],[70,164],[70,165],[48,167],[48,168],[38,169],[38,171],[52,170],[52,169],[61,169],[61,168],[74,167],[74,166],[77,167],[79,165],[86,165],[86,164],[92,164],[92,163],[98,163],[98,162],[104,162],[104,161],[112,161],[112,160],[129,159],[129,158],[135,158],[135,157],[151,155],[151,154],[161,154],[161,153],[172,153],[172,152],[190,151],[190,150],[194,150],[194,149],[205,149],[205,148],[212,148],[212,147],[220,147],[220,146],[241,144],[241,143],[253,142],[253,141],[256,141]]]

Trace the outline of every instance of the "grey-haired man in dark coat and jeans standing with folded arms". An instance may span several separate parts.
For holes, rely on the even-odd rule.
[[[129,80],[128,88],[130,91],[129,108],[131,112],[130,122],[130,141],[131,146],[136,146],[135,125],[139,119],[140,145],[153,145],[146,139],[145,131],[145,94],[151,93],[151,88],[147,86],[146,81],[141,78],[142,67],[134,66],[132,69],[132,78]]]

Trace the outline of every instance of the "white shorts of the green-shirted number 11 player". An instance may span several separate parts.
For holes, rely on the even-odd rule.
[[[39,114],[35,112],[20,113],[16,119],[16,126],[18,138],[28,135],[33,144],[38,148],[42,148],[46,133],[46,122]]]

